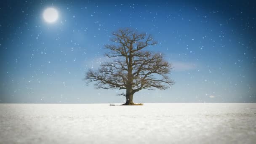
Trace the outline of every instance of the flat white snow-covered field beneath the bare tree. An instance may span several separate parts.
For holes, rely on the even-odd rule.
[[[256,144],[256,104],[0,104],[0,144]]]

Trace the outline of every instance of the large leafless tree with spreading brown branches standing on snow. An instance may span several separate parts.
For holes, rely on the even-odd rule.
[[[134,105],[133,94],[142,89],[158,88],[165,90],[173,85],[168,76],[171,64],[163,59],[161,53],[145,51],[149,45],[155,45],[151,35],[138,33],[129,28],[119,29],[112,33],[115,44],[107,44],[107,58],[112,61],[103,62],[98,70],[89,69],[85,80],[96,82],[96,88],[125,89],[124,105]]]

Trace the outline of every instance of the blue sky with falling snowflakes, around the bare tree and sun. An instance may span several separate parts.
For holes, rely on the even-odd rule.
[[[54,23],[43,19],[53,7]],[[172,88],[134,102],[256,102],[253,1],[7,1],[0,6],[1,103],[123,103],[122,91],[87,86],[111,33],[152,34],[173,64]]]

